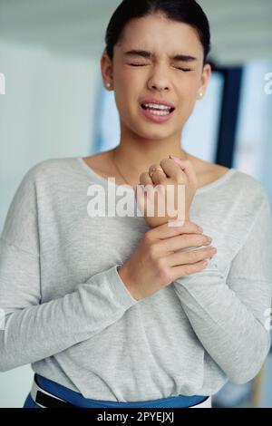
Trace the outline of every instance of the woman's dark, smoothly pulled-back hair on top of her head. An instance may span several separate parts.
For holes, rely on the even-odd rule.
[[[108,24],[104,53],[113,59],[113,48],[121,37],[121,32],[131,19],[162,12],[167,18],[194,27],[204,50],[204,64],[210,51],[209,21],[195,0],[123,0],[117,7]]]

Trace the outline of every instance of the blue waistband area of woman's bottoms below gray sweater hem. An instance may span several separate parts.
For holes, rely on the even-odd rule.
[[[168,408],[188,408],[191,405],[196,405],[204,402],[209,396],[193,395],[193,396],[171,396],[169,398],[161,398],[159,400],[150,400],[144,402],[112,402],[101,401],[84,398],[79,392],[74,392],[72,389],[66,388],[62,384],[53,382],[45,377],[35,373],[34,381],[44,391],[61,398],[65,402],[70,402],[76,407],[81,408],[153,408],[153,407],[168,407]],[[24,402],[23,408],[41,408],[34,402],[31,394],[29,393]]]

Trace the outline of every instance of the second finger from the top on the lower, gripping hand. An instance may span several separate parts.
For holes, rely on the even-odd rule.
[[[159,244],[161,253],[166,253],[167,251],[173,252],[183,248],[188,249],[189,247],[202,247],[204,245],[210,244],[210,241],[208,242],[207,237],[203,234],[188,233],[166,238],[160,241]]]

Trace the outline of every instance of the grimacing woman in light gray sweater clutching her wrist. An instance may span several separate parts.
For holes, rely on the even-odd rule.
[[[24,407],[211,407],[211,395],[251,380],[267,357],[267,194],[180,147],[210,76],[196,2],[124,0],[106,44],[120,145],[43,161],[17,190],[1,237],[1,370],[32,363]],[[110,177],[117,191],[130,185],[144,217],[87,213],[92,184],[107,190]],[[149,216],[139,182],[184,185],[186,221]]]

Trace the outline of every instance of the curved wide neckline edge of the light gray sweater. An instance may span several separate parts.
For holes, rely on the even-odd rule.
[[[86,162],[83,160],[83,157],[76,157],[75,160],[78,161],[78,163],[82,166],[82,168],[85,171],[87,171],[89,173],[89,175],[92,176],[92,178],[95,178],[95,179],[101,181],[103,185],[108,184],[108,179],[103,178],[101,175],[96,173],[96,171],[94,171],[88,164],[86,164]],[[204,185],[203,187],[198,188],[196,190],[195,196],[202,194],[203,192],[207,192],[210,189],[214,189],[214,188],[219,187],[221,184],[223,184],[226,180],[228,180],[237,171],[238,170],[233,169],[233,168],[228,169],[228,171],[226,171],[226,173],[224,173],[224,175],[221,176],[219,179],[216,179],[213,182],[210,182],[207,185]],[[131,191],[134,192],[134,190],[131,189],[129,187],[129,185],[127,185],[127,184],[118,185],[118,184],[113,183],[113,182],[111,182],[111,184],[114,185],[114,187],[116,189],[121,188],[121,187],[126,187],[128,190],[131,190]]]

